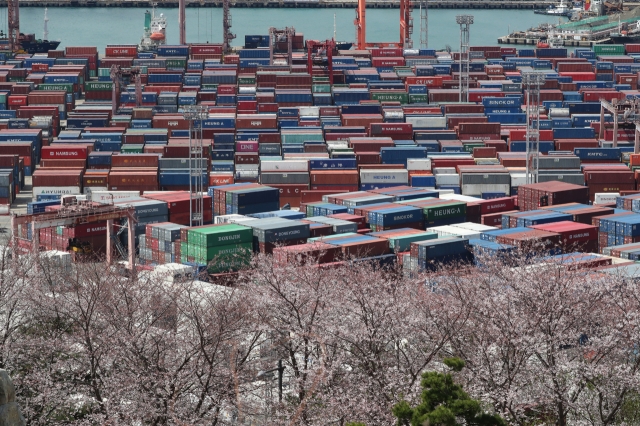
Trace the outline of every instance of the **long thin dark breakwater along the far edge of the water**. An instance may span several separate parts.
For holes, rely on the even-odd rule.
[[[141,0],[20,0],[20,7],[151,7],[151,1]],[[158,7],[178,7],[177,0],[154,0]],[[545,9],[557,4],[554,0],[440,0],[430,1],[429,9]],[[631,3],[625,3],[631,5]],[[640,3],[638,3],[640,4]],[[6,7],[0,1],[0,7]],[[355,8],[356,0],[235,0],[231,7],[257,8]],[[416,1],[414,6],[420,6]],[[187,7],[222,7],[221,0],[187,0]],[[373,9],[399,8],[398,0],[368,0]]]

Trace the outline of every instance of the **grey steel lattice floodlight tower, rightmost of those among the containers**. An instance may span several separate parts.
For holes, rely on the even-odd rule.
[[[522,84],[527,95],[526,116],[526,181],[527,184],[538,183],[538,163],[540,158],[540,87],[544,85],[546,76],[541,72],[522,73]],[[534,161],[535,160],[535,161]]]

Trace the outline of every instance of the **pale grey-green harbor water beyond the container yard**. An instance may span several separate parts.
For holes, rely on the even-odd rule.
[[[66,46],[97,46],[104,51],[107,44],[136,44],[143,32],[145,8],[74,8],[48,9],[49,39],[60,40]],[[178,44],[178,9],[158,9],[167,16],[167,44]],[[333,36],[334,13],[339,41],[354,41],[354,9],[231,9],[232,32],[237,35],[234,46],[241,46],[246,34],[267,34],[269,27],[293,26],[305,39],[325,40]],[[474,16],[471,45],[495,45],[500,36],[516,30],[526,30],[541,23],[557,23],[557,17],[536,15],[532,10],[432,9],[429,11],[429,47],[444,49],[450,45],[458,50],[460,27],[456,15]],[[43,33],[44,8],[23,7],[20,29],[23,33]],[[560,18],[566,21],[566,18]],[[420,45],[420,10],[413,12],[414,46]],[[6,9],[0,12],[0,28],[6,33]],[[398,9],[367,10],[367,39],[371,42],[395,42],[399,39]],[[221,8],[188,8],[187,41],[222,42]]]

